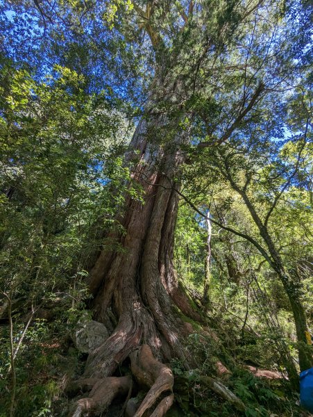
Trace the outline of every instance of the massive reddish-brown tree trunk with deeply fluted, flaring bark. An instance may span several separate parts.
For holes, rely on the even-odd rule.
[[[110,384],[107,377],[141,345],[149,346],[150,351],[147,347],[145,354],[139,354],[139,358],[144,358],[139,368],[144,368],[147,357],[149,363],[157,363],[153,356],[167,361],[175,356],[183,359],[186,365],[189,363],[184,338],[192,332],[192,326],[181,317],[187,315],[201,320],[201,316],[189,305],[187,295],[178,285],[173,266],[178,195],[171,181],[183,158],[178,147],[161,149],[155,145],[153,149],[148,137],[151,131],[163,127],[162,118],[154,118],[152,122],[143,118],[139,122],[126,160],[130,163],[139,152],[133,181],[142,186],[144,202],[126,200],[124,214],[119,218],[124,233],[113,232],[110,236],[120,243],[123,250],[115,253],[103,250],[90,272],[89,286],[94,295],[96,320],[105,324],[111,336],[87,359],[84,378],[96,380],[97,388],[92,391],[91,402],[86,400],[78,404],[75,416],[96,409],[96,404],[99,407],[108,405],[106,399],[99,405],[94,398],[101,397]],[[176,143],[180,141],[177,135]],[[149,379],[155,398],[149,400],[147,395],[149,407],[163,391],[171,391],[170,375],[169,368],[162,363],[155,365],[155,373]],[[126,391],[126,383],[117,384],[114,395],[120,390]],[[162,416],[171,403],[169,395],[167,401],[162,400],[157,406],[155,416]],[[146,409],[144,402],[139,410],[142,407]]]

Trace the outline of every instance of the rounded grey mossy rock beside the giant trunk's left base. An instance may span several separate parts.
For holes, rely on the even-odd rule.
[[[76,348],[83,353],[90,353],[109,337],[105,325],[94,320],[78,322],[73,341]]]

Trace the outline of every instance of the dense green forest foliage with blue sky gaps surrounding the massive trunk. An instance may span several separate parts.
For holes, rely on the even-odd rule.
[[[186,373],[172,359],[167,415],[242,415],[201,386],[220,360],[246,416],[305,412],[293,377],[312,358],[310,1],[153,3],[0,4],[1,417],[67,413],[86,359],[71,335],[92,317],[86,277],[101,250],[124,250],[106,238],[124,233],[124,202],[144,204],[127,149],[151,102],[170,126],[152,149],[188,133],[174,263],[214,334],[203,343],[186,318],[203,361]]]

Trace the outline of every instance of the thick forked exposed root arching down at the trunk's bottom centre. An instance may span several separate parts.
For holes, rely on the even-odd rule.
[[[134,417],[142,417],[144,412],[160,398],[162,393],[169,391],[170,395],[163,398],[151,414],[151,417],[164,416],[174,401],[172,393],[174,376],[171,369],[153,357],[149,345],[142,345],[139,350],[131,353],[130,361],[131,370],[137,382],[151,387]]]

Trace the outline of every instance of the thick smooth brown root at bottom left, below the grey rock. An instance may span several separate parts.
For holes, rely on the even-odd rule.
[[[81,380],[79,384],[84,385],[85,383]],[[132,379],[130,376],[98,379],[89,397],[78,400],[70,416],[81,417],[85,413],[94,414],[105,410],[115,397],[118,395],[126,396],[131,384]]]

